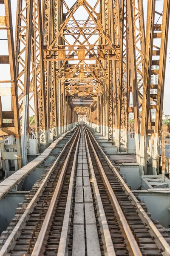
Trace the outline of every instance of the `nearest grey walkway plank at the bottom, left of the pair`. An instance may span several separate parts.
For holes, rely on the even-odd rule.
[[[84,225],[74,225],[73,228],[73,250],[74,256],[85,256],[85,231]]]

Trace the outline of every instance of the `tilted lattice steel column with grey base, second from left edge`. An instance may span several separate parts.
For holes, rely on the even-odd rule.
[[[33,0],[17,0],[15,58],[17,70],[18,100],[22,114],[21,147],[23,164],[27,161],[28,103],[31,64],[31,25]]]

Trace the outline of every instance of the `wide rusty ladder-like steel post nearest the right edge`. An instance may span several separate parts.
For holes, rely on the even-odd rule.
[[[140,150],[140,170],[145,174],[147,160],[152,163],[153,174],[159,174],[158,145],[161,135],[169,17],[168,0],[148,0]],[[155,84],[152,84],[151,76]],[[153,89],[156,90],[154,93]],[[156,109],[155,122],[152,122],[152,109]],[[149,144],[153,144],[153,147],[149,147]]]

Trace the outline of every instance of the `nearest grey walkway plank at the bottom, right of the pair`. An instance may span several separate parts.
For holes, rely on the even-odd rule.
[[[101,256],[96,224],[86,225],[86,243],[88,256]]]

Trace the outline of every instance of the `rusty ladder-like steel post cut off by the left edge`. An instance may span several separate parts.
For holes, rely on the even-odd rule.
[[[3,70],[3,67],[1,66],[1,72],[5,72],[4,74],[1,73],[3,80],[0,80],[0,83],[3,84],[3,87],[0,87],[0,168],[3,167],[3,170],[5,171],[10,169],[10,165],[13,161],[15,170],[20,169],[22,165],[22,156],[11,1],[0,1],[0,8],[3,9],[3,7],[5,9],[5,16],[0,17],[0,30],[6,32],[7,38],[1,39],[4,40],[6,44],[8,43],[8,47],[6,47],[8,49],[8,54],[0,56],[0,64],[3,64],[3,67],[5,68],[5,70]],[[1,101],[3,96],[11,97],[11,111],[3,111],[4,101]]]

